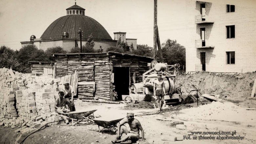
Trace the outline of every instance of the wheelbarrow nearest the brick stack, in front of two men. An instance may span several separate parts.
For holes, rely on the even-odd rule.
[[[68,116],[72,120],[72,125],[75,125],[75,124],[85,125],[85,123],[81,123],[81,122],[87,122],[88,124],[95,124],[93,121],[93,119],[95,118],[93,113],[95,111],[97,110],[74,111],[74,112],[61,113],[61,114]]]

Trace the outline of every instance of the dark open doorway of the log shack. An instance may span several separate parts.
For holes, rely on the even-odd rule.
[[[113,67],[115,91],[118,100],[122,100],[122,95],[129,95],[129,67]]]

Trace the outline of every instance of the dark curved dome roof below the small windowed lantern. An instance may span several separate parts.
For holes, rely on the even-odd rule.
[[[56,19],[40,37],[42,40],[62,38],[63,32],[69,33],[69,38],[80,39],[79,28],[81,28],[82,39],[88,39],[93,34],[93,39],[112,40],[105,28],[95,19],[85,15],[66,15]]]

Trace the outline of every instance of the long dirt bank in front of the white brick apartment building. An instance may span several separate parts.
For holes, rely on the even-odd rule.
[[[256,72],[246,72],[238,76],[216,76],[212,72],[196,72],[187,76],[177,76],[176,87],[186,92],[182,78],[188,92],[192,90],[190,83],[195,85],[201,93],[219,94],[219,98],[240,102],[250,96]]]

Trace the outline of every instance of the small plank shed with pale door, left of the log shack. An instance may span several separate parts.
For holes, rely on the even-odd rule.
[[[55,78],[55,62],[29,61],[32,75]]]

